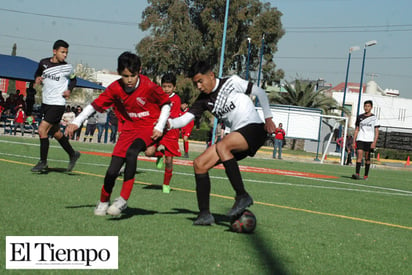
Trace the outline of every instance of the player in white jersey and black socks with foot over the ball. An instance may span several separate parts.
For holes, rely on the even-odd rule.
[[[219,163],[223,164],[226,175],[236,192],[235,203],[227,215],[232,218],[240,215],[253,204],[253,199],[245,190],[237,162],[247,156],[254,156],[266,140],[267,133],[273,133],[276,127],[265,91],[253,83],[236,75],[216,78],[212,67],[205,61],[193,64],[189,77],[201,94],[187,113],[169,119],[169,128],[181,128],[193,119],[200,118],[203,112],[210,111],[231,129],[230,134],[208,147],[193,162],[200,211],[193,224],[211,225],[215,220],[209,207],[208,171]],[[251,94],[258,97],[265,121],[257,113],[250,98]]]

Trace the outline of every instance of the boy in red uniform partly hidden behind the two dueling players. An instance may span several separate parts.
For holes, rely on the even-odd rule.
[[[162,77],[162,89],[169,95],[170,99],[170,118],[176,118],[180,115],[180,97],[176,91],[176,76],[167,73]],[[163,145],[163,146],[162,146]],[[164,149],[160,149],[164,147]],[[157,151],[156,151],[157,149]],[[163,155],[165,156],[165,175],[163,179],[163,193],[170,193],[170,180],[173,175],[173,157],[180,157],[179,148],[179,129],[167,131],[164,136],[154,145],[146,150],[147,156],[156,156],[158,168],[163,167]]]

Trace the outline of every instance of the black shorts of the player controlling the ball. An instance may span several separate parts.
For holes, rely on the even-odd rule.
[[[247,156],[253,157],[257,150],[265,143],[267,132],[264,123],[252,123],[242,127],[235,132],[240,133],[245,139],[249,148],[247,151],[236,152],[233,155],[237,160],[244,159]]]

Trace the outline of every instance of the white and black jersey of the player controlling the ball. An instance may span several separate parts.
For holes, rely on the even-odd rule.
[[[200,94],[189,112],[195,117],[209,110],[232,131],[252,123],[264,123],[249,97],[253,84],[236,75],[216,79],[215,90],[210,94]]]

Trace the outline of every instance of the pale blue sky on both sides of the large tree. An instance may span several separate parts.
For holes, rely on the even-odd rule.
[[[0,53],[33,60],[50,56],[57,39],[70,43],[68,61],[115,70],[117,56],[134,51],[144,34],[139,30],[146,1],[13,0],[0,7]],[[266,2],[266,1],[264,1]],[[385,89],[412,98],[412,1],[410,0],[271,0],[282,13],[285,36],[275,54],[285,79],[318,79],[335,86],[344,82],[348,51],[349,81],[359,82],[363,45],[368,47],[364,83],[372,77]],[[73,20],[72,18],[78,18]],[[252,41],[260,45],[260,41]]]

